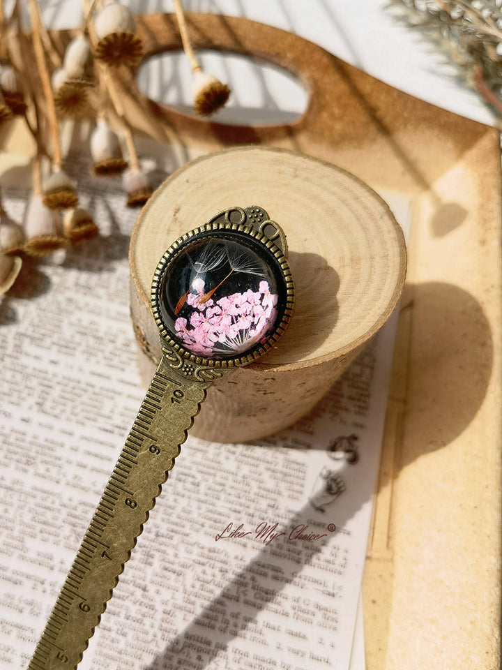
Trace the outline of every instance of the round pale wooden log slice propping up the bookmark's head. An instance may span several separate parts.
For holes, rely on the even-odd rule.
[[[400,297],[406,250],[387,205],[353,175],[281,149],[210,154],[172,174],[142,210],[130,244],[131,312],[145,385],[160,359],[153,272],[183,233],[228,207],[257,204],[287,235],[294,315],[274,350],[216,382],[192,433],[240,442],[310,410]]]

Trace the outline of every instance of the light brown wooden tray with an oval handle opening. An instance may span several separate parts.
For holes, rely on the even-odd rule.
[[[145,54],[181,49],[172,15],[137,17]],[[117,82],[136,131],[185,160],[262,144],[301,151],[395,191],[413,212],[364,584],[368,670],[499,667],[499,135],[418,101],[303,38],[189,14],[199,48],[286,68],[309,103],[294,123],[196,119]],[[73,34],[53,34],[60,52]]]

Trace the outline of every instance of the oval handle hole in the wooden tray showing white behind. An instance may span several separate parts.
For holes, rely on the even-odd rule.
[[[197,56],[204,72],[231,89],[227,105],[211,120],[238,126],[290,124],[305,112],[307,91],[287,70],[241,54],[205,50]],[[194,113],[192,75],[181,51],[155,54],[144,61],[137,73],[137,87],[155,102]]]

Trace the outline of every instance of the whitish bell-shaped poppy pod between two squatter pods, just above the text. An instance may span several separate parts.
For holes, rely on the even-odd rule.
[[[27,240],[24,253],[30,256],[45,256],[69,244],[63,235],[59,212],[45,207],[38,195],[33,195],[26,209],[24,231]]]

